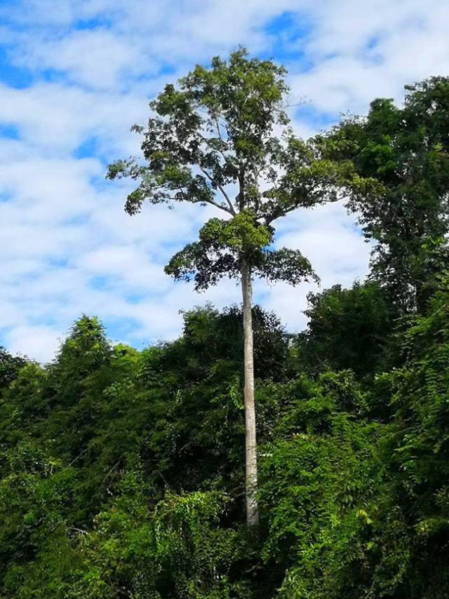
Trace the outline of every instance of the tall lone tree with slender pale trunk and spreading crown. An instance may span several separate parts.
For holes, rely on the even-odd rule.
[[[249,59],[245,49],[229,61],[214,58],[167,85],[151,102],[142,134],[145,161],[109,166],[108,177],[132,177],[138,188],[125,209],[138,213],[145,201],[211,205],[224,213],[211,218],[199,240],[175,254],[166,273],[194,280],[196,290],[223,276],[241,282],[246,422],[246,518],[257,525],[257,455],[254,404],[252,281],[316,278],[297,250],[272,249],[273,222],[299,207],[337,198],[347,163],[322,160],[313,142],[293,135],[283,107],[285,69],[270,60]]]

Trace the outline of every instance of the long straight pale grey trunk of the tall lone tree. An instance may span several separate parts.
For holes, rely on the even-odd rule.
[[[246,524],[259,524],[257,508],[257,443],[255,438],[254,354],[253,354],[253,286],[251,271],[246,262],[241,269],[243,296],[243,359],[245,366],[245,427],[246,427]]]

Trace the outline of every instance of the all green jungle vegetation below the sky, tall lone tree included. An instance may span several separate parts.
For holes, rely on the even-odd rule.
[[[0,349],[2,599],[449,596],[449,79],[303,141],[283,76],[244,51],[197,67],[138,128],[145,160],[109,175],[139,180],[130,213],[229,210],[167,270],[243,278],[243,300],[257,273],[311,276],[270,247],[273,220],[344,194],[374,242],[366,281],[309,295],[299,333],[243,302],[187,311],[142,351],[86,315],[47,365]]]

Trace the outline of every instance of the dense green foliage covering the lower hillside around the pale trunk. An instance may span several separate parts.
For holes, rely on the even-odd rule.
[[[447,597],[449,285],[396,329],[372,283],[311,297],[309,316],[290,339],[254,311],[258,537],[239,309],[187,312],[141,352],[86,316],[46,367],[4,352],[0,596]],[[347,322],[371,354],[333,351]]]

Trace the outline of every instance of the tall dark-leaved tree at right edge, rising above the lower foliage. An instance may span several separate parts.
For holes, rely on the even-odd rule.
[[[406,86],[403,107],[378,98],[364,118],[344,119],[322,140],[330,159],[351,160],[380,183],[377,194],[351,194],[367,238],[377,241],[371,278],[403,312],[429,297],[426,246],[448,233],[449,78]]]

